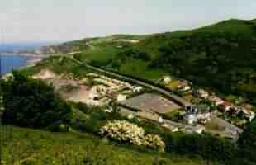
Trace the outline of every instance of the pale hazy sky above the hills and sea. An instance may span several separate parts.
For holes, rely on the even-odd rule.
[[[255,19],[255,9],[255,0],[0,0],[0,34],[7,43],[150,34]]]

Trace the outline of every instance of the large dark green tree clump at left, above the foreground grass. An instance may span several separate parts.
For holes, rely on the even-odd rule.
[[[31,128],[69,124],[71,108],[53,87],[19,72],[12,74],[13,78],[1,84],[4,123]]]

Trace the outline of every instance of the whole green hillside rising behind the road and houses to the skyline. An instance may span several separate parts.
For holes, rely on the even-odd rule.
[[[118,40],[126,38],[117,36]],[[138,43],[118,40],[113,36],[91,40],[75,57],[153,81],[171,73],[256,103],[255,20],[221,21],[191,31],[145,35],[137,38]]]

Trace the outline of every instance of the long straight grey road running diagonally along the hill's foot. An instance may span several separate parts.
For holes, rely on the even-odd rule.
[[[134,82],[135,84],[138,84],[138,85],[143,86],[143,87],[149,87],[150,89],[152,89],[156,92],[159,92],[159,93],[163,94],[164,96],[172,98],[173,101],[177,102],[181,106],[191,106],[192,105],[191,102],[186,101],[182,97],[179,97],[178,95],[175,95],[172,92],[169,92],[168,90],[165,90],[161,87],[157,87],[157,86],[154,86],[150,83],[142,82],[142,81],[134,79],[134,78],[129,78],[127,76],[123,76],[123,75],[120,75],[118,73],[112,73],[110,71],[104,70],[102,68],[97,68],[97,67],[94,67],[94,66],[89,65],[89,64],[84,64],[83,62],[79,61],[78,59],[74,59],[73,57],[70,57],[70,56],[66,56],[66,57],[68,57],[70,59],[73,59],[73,61],[77,62],[78,64],[84,65],[87,68],[91,68],[92,70],[96,70],[97,72],[105,73],[105,74],[111,75],[111,76],[116,77],[116,78],[121,78],[121,79],[129,81],[129,82]]]

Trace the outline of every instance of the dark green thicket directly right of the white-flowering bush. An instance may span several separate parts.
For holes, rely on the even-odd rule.
[[[167,151],[192,156],[200,156],[206,160],[229,162],[235,158],[235,143],[220,139],[210,134],[164,134]]]

